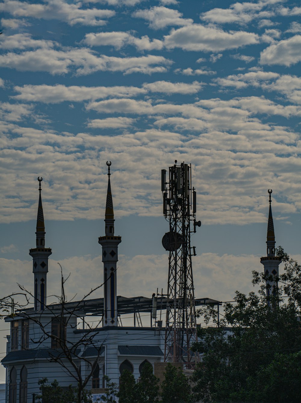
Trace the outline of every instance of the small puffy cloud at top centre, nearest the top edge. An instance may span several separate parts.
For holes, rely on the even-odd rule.
[[[169,25],[191,25],[193,23],[193,20],[190,18],[182,18],[183,14],[178,10],[172,10],[163,6],[137,10],[133,12],[133,17],[145,19],[149,22],[149,27],[153,29],[161,29]]]

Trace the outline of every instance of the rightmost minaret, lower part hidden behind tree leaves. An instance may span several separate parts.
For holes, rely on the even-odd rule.
[[[274,223],[273,223],[273,216],[272,216],[272,199],[271,193],[272,189],[268,190],[270,195],[269,203],[270,203],[270,210],[269,210],[269,218],[268,218],[268,233],[266,236],[266,245],[267,245],[267,256],[260,259],[260,263],[264,265],[264,273],[268,276],[279,276],[279,264],[281,260],[275,256],[275,233],[274,233]],[[270,287],[268,287],[270,285]],[[275,293],[275,289],[277,287],[277,281],[266,281],[266,296],[268,297],[271,293]],[[270,302],[268,302],[270,305]]]

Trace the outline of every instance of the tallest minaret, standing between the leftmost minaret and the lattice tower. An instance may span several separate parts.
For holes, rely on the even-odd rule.
[[[106,201],[104,237],[98,238],[102,245],[102,262],[104,263],[104,326],[117,326],[117,279],[118,244],[121,237],[114,236],[114,210],[110,183],[110,165],[108,165],[108,192]]]

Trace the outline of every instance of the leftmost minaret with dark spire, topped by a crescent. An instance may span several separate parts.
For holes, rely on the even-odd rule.
[[[41,197],[41,182],[43,178],[37,178],[39,181],[39,206],[37,208],[37,236],[36,247],[29,249],[29,255],[33,258],[33,274],[34,274],[34,297],[35,311],[43,310],[46,306],[47,292],[47,273],[48,273],[48,257],[52,251],[45,248],[45,224]]]

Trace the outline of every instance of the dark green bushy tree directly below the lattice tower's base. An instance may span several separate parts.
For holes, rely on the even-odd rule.
[[[192,403],[191,386],[181,368],[167,364],[161,384],[162,403]]]

